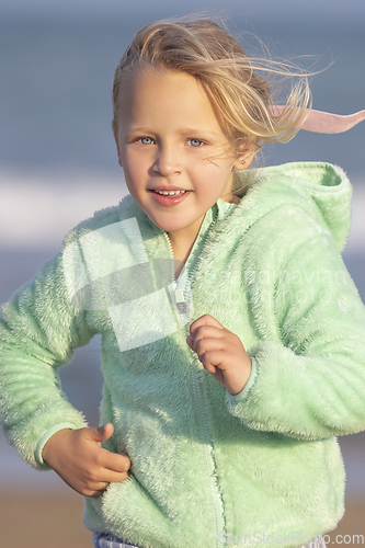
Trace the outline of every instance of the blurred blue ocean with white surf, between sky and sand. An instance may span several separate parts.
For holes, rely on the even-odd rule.
[[[274,56],[294,58],[318,72],[311,78],[315,109],[350,114],[365,107],[364,11],[351,23],[313,18],[306,25],[298,24],[299,10],[296,15],[278,10],[272,19],[261,19],[256,10],[250,19],[243,9],[232,9],[230,15],[228,27],[249,49],[259,46],[253,33]],[[1,19],[0,302],[57,252],[79,220],[116,204],[127,192],[111,130],[111,83],[134,33],[153,19],[151,10],[137,9],[126,18],[102,20]],[[354,183],[353,224],[343,256],[363,300],[364,132],[365,123],[343,135],[300,132],[287,145],[267,146],[264,155],[265,164],[321,160],[347,172]],[[61,370],[68,398],[92,424],[98,422],[102,386],[99,347],[95,338]],[[365,492],[364,439],[357,435],[343,441],[347,489],[356,495]],[[0,483],[60,488],[53,475],[41,475],[41,481],[34,473],[0,436]]]

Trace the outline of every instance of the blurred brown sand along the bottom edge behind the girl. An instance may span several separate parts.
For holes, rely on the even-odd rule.
[[[68,494],[1,492],[1,548],[92,548],[91,533],[83,527],[81,514],[82,498],[72,491]],[[340,541],[337,535],[342,535]],[[353,541],[353,535],[365,536],[365,501],[347,503],[328,546],[363,546],[364,538]]]

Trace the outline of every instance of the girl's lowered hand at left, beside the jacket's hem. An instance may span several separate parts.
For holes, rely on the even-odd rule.
[[[100,496],[112,482],[128,477],[130,460],[101,446],[114,432],[109,423],[99,429],[59,430],[45,444],[45,463],[75,491]]]

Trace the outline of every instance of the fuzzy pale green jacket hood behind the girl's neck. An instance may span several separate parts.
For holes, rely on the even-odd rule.
[[[321,162],[263,168],[256,171],[243,202],[254,195],[262,202],[261,215],[283,203],[299,206],[330,230],[343,249],[350,231],[352,186],[341,168]]]

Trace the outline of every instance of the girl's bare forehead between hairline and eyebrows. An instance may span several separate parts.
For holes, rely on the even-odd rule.
[[[191,75],[155,68],[130,72],[122,89],[118,123],[148,125],[158,119],[221,130],[202,83]]]

